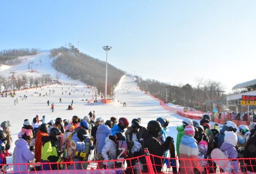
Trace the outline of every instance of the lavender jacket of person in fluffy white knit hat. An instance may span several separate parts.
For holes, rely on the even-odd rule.
[[[222,145],[221,145],[221,148],[220,148],[221,151],[223,151],[223,153],[230,159],[232,158],[238,158],[238,153],[236,151],[236,148],[227,143],[227,142],[224,142]],[[238,160],[231,160],[231,163],[232,163],[232,166],[233,166],[233,170],[235,172],[239,172],[239,162]]]

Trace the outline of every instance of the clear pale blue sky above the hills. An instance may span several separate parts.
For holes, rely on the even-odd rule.
[[[0,49],[65,41],[143,78],[173,84],[203,77],[227,92],[256,78],[256,1],[0,1]]]

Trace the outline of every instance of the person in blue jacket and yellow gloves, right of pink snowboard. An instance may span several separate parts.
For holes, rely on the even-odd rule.
[[[85,143],[84,139],[88,136],[88,131],[86,129],[80,129],[77,133],[72,136],[72,140],[76,142],[76,156],[74,158],[74,162],[82,161],[88,154],[85,151]],[[91,147],[90,147],[91,148]],[[81,163],[76,163],[75,166],[72,166],[72,169],[82,169]]]

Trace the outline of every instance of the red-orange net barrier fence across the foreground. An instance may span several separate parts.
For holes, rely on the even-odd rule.
[[[0,165],[3,173],[38,174],[212,174],[256,172],[256,158],[178,159],[145,154],[133,158],[108,161],[45,162]]]

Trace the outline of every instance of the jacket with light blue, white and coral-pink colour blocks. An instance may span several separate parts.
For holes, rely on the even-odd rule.
[[[184,135],[180,142],[180,158],[198,159],[198,145],[192,136]],[[204,167],[197,160],[182,160],[180,159],[180,173],[193,174],[193,168],[198,171],[204,171]]]

